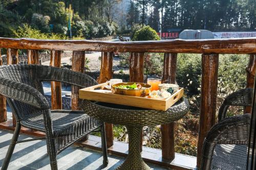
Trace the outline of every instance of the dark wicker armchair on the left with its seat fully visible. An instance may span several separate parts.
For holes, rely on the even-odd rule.
[[[58,81],[78,87],[97,82],[86,74],[43,65],[7,65],[0,67],[0,93],[5,95],[16,117],[13,134],[2,169],[7,169],[15,144],[42,138],[18,141],[20,127],[46,133],[51,169],[57,169],[56,155],[74,142],[101,128],[103,165],[108,164],[104,123],[83,111],[51,110],[44,97],[42,81]]]

